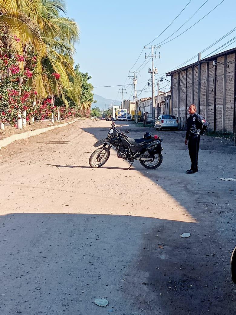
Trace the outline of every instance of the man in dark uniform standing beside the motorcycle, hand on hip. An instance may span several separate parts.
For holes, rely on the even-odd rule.
[[[190,116],[187,119],[187,131],[185,137],[185,145],[188,145],[188,152],[191,159],[191,169],[187,174],[194,174],[198,172],[198,151],[200,143],[200,135],[206,131],[208,122],[196,113],[196,106],[194,104],[188,107]]]

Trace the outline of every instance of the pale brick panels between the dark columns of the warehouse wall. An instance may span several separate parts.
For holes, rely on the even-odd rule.
[[[208,80],[208,99],[206,69],[207,63],[201,63],[200,74],[200,115],[205,117],[209,122],[209,130],[214,129],[214,89],[216,84],[216,130],[222,131],[225,125],[225,131],[233,132],[233,104],[234,104],[234,60],[235,54],[227,56],[226,67],[226,90],[225,100],[223,100],[223,82],[224,82],[224,55],[217,58],[216,66],[216,82],[215,82],[215,66],[209,61],[209,80]],[[220,64],[221,62],[222,64]],[[192,82],[193,68],[189,67],[180,72],[180,116],[185,116],[185,99],[186,99],[186,70],[187,70],[187,108],[192,103],[192,85],[194,85],[194,104],[198,107],[198,66],[194,67],[194,82]],[[173,91],[172,91],[172,107],[173,114],[177,115],[177,98],[178,98],[178,73],[172,75]],[[225,121],[223,122],[223,103],[225,101]],[[206,107],[208,104],[208,107]],[[197,108],[198,110],[198,108]],[[188,116],[188,113],[187,113]]]

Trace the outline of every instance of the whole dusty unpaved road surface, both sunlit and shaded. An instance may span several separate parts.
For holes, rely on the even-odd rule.
[[[236,182],[220,180],[236,176],[235,148],[203,136],[187,175],[184,133],[156,132],[160,168],[127,171],[112,151],[92,169],[109,125],[79,120],[0,151],[0,314],[235,313]]]

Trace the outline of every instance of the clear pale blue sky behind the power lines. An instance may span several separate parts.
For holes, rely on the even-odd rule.
[[[205,1],[192,0],[182,14],[153,44],[158,44],[169,37]],[[170,39],[192,26],[221,1],[208,0],[194,17]],[[143,46],[157,37],[188,2],[189,0],[169,0],[167,2],[158,0],[114,2],[110,0],[90,0],[88,2],[67,0],[67,15],[74,19],[80,28],[80,42],[76,45],[75,62],[80,64],[82,72],[88,72],[92,76],[93,86],[124,84],[128,72],[137,60]],[[160,77],[162,73],[178,67],[236,27],[235,12],[236,1],[225,0],[189,31],[161,46],[157,50],[158,55],[160,51],[161,59],[155,60],[155,66],[158,68],[156,78]],[[203,53],[202,58],[235,36],[236,31]],[[223,50],[233,47],[236,47],[236,42],[231,43]],[[147,55],[150,53],[150,49],[145,51]],[[137,70],[144,60],[143,52],[132,71]],[[197,59],[189,63],[195,60]],[[137,90],[143,89],[150,79],[149,66],[151,66],[151,61],[140,71],[141,78],[138,78]],[[129,83],[131,80],[127,79],[126,84]],[[164,87],[166,84],[168,82],[164,81],[160,86]],[[125,88],[128,93],[124,97],[131,96],[132,98],[131,86]],[[118,90],[119,87],[95,88],[94,93],[105,98],[121,100]],[[139,95],[139,93],[137,94]],[[146,92],[142,93],[141,97],[150,95],[150,92]]]

